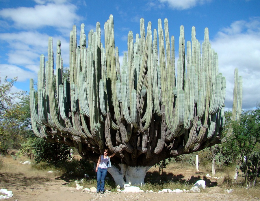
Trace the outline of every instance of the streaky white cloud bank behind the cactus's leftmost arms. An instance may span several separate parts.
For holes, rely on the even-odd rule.
[[[18,77],[18,81],[25,81],[30,78],[37,78],[40,65],[40,55],[44,54],[45,61],[48,60],[48,39],[47,34],[39,32],[20,32],[0,34],[0,41],[8,43],[10,49],[6,49],[5,60],[8,64],[0,64],[1,77]],[[64,66],[69,66],[69,42],[62,36],[53,37],[54,62],[56,55],[57,40],[61,40],[62,57]],[[3,60],[1,61],[3,62]],[[23,68],[20,68],[20,67]],[[27,72],[27,71],[28,72]]]

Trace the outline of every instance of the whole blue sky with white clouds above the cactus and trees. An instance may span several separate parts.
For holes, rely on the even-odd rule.
[[[0,0],[0,77],[18,77],[14,91],[29,91],[29,79],[37,81],[40,55],[47,60],[49,36],[54,49],[62,44],[64,66],[69,66],[69,36],[73,25],[78,34],[81,23],[85,32],[114,16],[115,43],[120,58],[127,51],[127,34],[140,33],[140,18],[145,25],[168,19],[169,34],[175,37],[178,57],[179,28],[184,26],[185,41],[204,40],[209,28],[211,47],[218,53],[219,72],[226,77],[226,108],[232,108],[234,69],[243,77],[243,109],[254,108],[260,101],[260,1],[259,0]]]

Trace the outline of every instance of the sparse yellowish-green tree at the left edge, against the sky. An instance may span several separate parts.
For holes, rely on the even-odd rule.
[[[17,78],[8,81],[0,77],[0,152],[17,148],[21,136],[28,131],[32,134],[30,126],[29,96],[25,92],[12,93]],[[19,102],[18,102],[19,101]],[[26,128],[26,129],[25,129]]]

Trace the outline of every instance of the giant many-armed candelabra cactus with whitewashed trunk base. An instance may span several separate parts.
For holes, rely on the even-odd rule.
[[[133,33],[129,32],[122,66],[114,43],[112,15],[105,23],[104,46],[99,23],[96,32],[89,32],[88,45],[83,24],[77,45],[74,26],[70,33],[70,82],[63,79],[60,41],[54,80],[50,38],[49,61],[44,64],[43,55],[40,60],[38,106],[33,80],[30,85],[35,134],[74,146],[83,158],[92,161],[108,147],[117,153],[109,172],[120,185],[144,182],[147,170],[161,160],[220,143],[225,78],[218,72],[218,57],[211,49],[208,29],[202,52],[195,35],[192,27],[185,55],[181,26],[176,75],[174,37],[169,37],[167,19],[164,29],[158,20],[153,36],[151,22],[145,33],[144,19],[140,20],[140,37],[136,34],[133,43]],[[239,118],[241,92],[242,78],[236,70],[233,119]]]

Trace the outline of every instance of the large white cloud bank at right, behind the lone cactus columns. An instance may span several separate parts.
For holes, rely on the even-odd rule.
[[[218,32],[211,47],[218,53],[219,72],[226,77],[226,100],[232,108],[234,69],[243,78],[243,103],[245,109],[260,101],[260,18],[249,22],[236,21]]]

